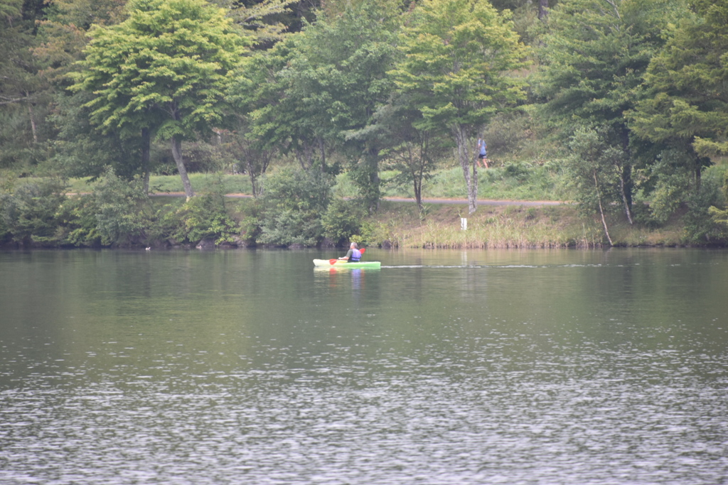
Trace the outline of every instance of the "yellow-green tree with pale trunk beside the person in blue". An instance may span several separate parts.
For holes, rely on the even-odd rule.
[[[424,0],[403,28],[403,58],[391,71],[422,112],[419,127],[446,128],[454,137],[470,213],[477,208],[478,169],[468,143],[499,110],[525,97],[515,71],[528,65],[526,47],[509,14],[483,0]]]

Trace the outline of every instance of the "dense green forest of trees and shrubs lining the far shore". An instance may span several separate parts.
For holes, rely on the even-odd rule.
[[[478,210],[479,137],[598,244],[728,242],[728,0],[0,0],[0,24],[0,244],[376,243],[385,183],[424,218],[457,167]],[[185,197],[153,200],[162,175]]]

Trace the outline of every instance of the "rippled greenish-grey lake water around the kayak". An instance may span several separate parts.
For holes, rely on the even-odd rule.
[[[728,483],[728,252],[340,254],[0,252],[0,483]]]

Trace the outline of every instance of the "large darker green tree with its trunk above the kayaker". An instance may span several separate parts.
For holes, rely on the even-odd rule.
[[[344,153],[371,209],[379,201],[379,146],[367,128],[389,95],[399,12],[379,0],[341,5],[338,15],[322,12],[304,31],[254,56],[235,92],[250,109],[253,132],[275,140],[303,169],[325,172],[328,153]]]

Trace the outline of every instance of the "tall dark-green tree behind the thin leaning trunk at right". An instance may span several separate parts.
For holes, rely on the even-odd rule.
[[[534,77],[539,114],[569,136],[573,124],[599,127],[609,146],[623,155],[612,172],[619,203],[633,222],[633,156],[625,113],[641,99],[649,61],[664,38],[663,28],[679,15],[673,0],[561,0],[542,36],[542,68]],[[585,186],[588,190],[588,186]]]

